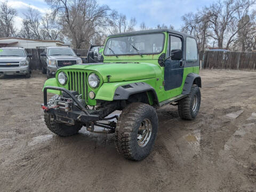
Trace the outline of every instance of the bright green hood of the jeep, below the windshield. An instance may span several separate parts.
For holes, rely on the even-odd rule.
[[[154,78],[160,67],[151,63],[88,63],[62,67],[61,69],[84,69],[97,71],[103,78],[103,82],[123,82],[140,79]],[[61,70],[60,69],[60,70]]]

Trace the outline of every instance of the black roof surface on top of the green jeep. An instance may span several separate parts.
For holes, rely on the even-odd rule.
[[[183,37],[192,37],[192,38],[194,38],[191,35],[181,33],[181,32],[176,31],[176,30],[170,30],[170,29],[150,29],[150,30],[130,31],[130,32],[126,32],[126,33],[112,34],[112,35],[109,35],[108,37],[116,37],[116,36],[122,36],[122,35],[138,35],[138,34],[149,34],[149,33],[161,33],[161,32],[168,32],[168,33],[181,35]]]

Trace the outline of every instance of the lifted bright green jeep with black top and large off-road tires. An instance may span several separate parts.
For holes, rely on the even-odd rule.
[[[62,67],[45,82],[42,109],[53,133],[69,136],[82,126],[115,133],[117,151],[140,161],[156,139],[156,108],[171,104],[182,119],[196,118],[201,77],[193,37],[168,29],[110,35],[100,60]],[[47,101],[47,92],[57,95]]]

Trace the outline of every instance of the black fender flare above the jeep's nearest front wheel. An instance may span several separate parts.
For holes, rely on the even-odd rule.
[[[115,91],[113,100],[126,100],[129,99],[130,95],[147,91],[152,91],[154,93],[155,100],[158,103],[155,89],[151,85],[144,82],[130,83],[127,85],[118,86]]]

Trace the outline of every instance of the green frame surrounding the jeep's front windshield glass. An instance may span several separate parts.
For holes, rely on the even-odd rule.
[[[151,35],[151,34],[162,34],[163,35],[163,46],[162,46],[162,50],[159,51],[159,52],[155,52],[155,53],[141,53],[141,55],[152,55],[152,54],[160,54],[163,52],[164,50],[164,43],[165,43],[165,34],[162,33],[162,32],[159,32],[159,33],[141,33],[141,34],[135,34],[135,35],[120,35],[120,36],[114,36],[114,37],[109,37],[105,43],[105,46],[104,46],[104,50],[103,50],[103,55],[104,56],[114,56],[117,55],[117,56],[122,56],[122,55],[140,55],[139,53],[125,53],[125,54],[105,54],[105,49],[108,49],[107,47],[107,42],[109,41],[109,39],[111,38],[117,38],[117,37],[123,37],[123,36],[138,36],[138,35]],[[110,47],[111,48],[111,47]]]

